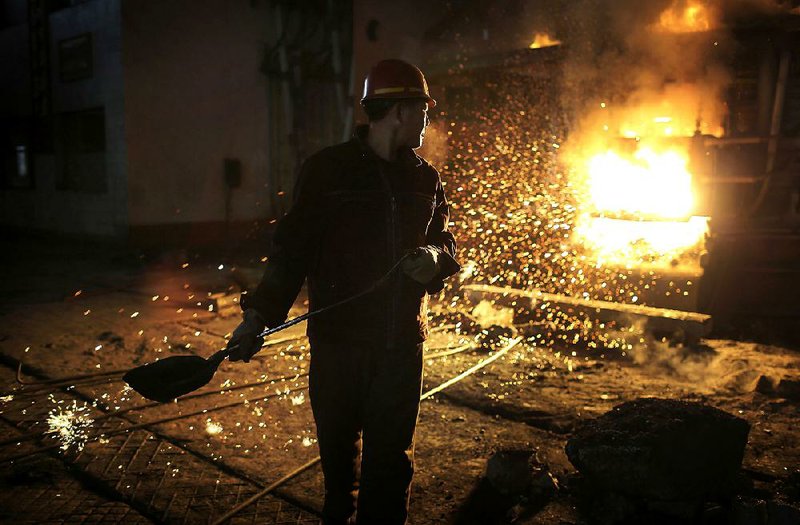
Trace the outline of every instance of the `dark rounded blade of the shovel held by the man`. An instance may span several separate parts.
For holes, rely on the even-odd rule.
[[[216,366],[198,356],[173,356],[128,371],[122,380],[143,397],[168,403],[205,386]]]

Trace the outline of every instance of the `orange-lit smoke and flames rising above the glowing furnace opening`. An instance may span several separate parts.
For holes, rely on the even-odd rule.
[[[573,137],[719,135],[735,48],[730,27],[790,13],[777,0],[578,0],[558,25],[567,44],[562,103]],[[557,23],[557,22],[556,22]],[[558,23],[557,23],[558,24]],[[666,127],[660,128],[663,131]]]

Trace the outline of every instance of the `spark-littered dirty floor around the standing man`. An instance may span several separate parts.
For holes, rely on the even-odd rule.
[[[138,253],[42,238],[13,239],[4,252],[12,256],[2,263],[0,287],[0,519],[206,523],[316,456],[303,325],[274,336],[250,364],[224,363],[203,390],[208,395],[179,403],[145,407],[119,373],[50,389],[14,378],[19,361],[26,381],[40,381],[210,355],[224,346],[238,313],[209,310],[209,294],[255,284],[259,254]],[[301,296],[290,316],[304,311]],[[755,343],[703,343],[699,351],[645,346],[622,358],[526,339],[423,402],[410,522],[469,523],[465,509],[474,507],[486,460],[499,449],[535,450],[557,479],[568,480],[575,472],[564,444],[574,428],[638,397],[703,401],[745,418],[752,425],[744,465],[752,488],[743,496],[796,504],[798,401],[757,385],[794,377],[800,355]],[[467,350],[442,355],[459,346]],[[426,350],[425,390],[485,359],[475,346],[437,328]],[[279,377],[288,379],[273,381]],[[78,409],[92,420],[90,439],[81,450],[62,451],[42,432],[48,417]],[[316,523],[321,503],[322,477],[312,468],[233,522]],[[580,503],[564,488],[517,523],[588,523]]]

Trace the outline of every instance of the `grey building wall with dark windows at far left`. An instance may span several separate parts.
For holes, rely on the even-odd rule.
[[[119,19],[120,0],[79,4],[56,11],[49,18],[52,111],[58,118],[64,112],[104,109],[105,155],[98,155],[94,160],[104,163],[101,169],[104,169],[106,177],[105,190],[89,193],[59,189],[61,160],[55,151],[38,153],[33,158],[34,188],[0,191],[0,221],[4,224],[100,236],[119,236],[126,231],[127,183]],[[59,42],[85,33],[92,35],[93,73],[90,78],[62,81]],[[2,35],[4,40],[13,40],[13,43],[2,46],[4,53],[22,53],[20,50],[25,50],[24,57],[15,57],[17,62],[12,82],[18,89],[16,98],[20,99],[15,104],[22,105],[21,98],[25,98],[24,107],[28,108],[26,113],[30,115],[27,25],[7,29]],[[7,65],[4,64],[4,75],[6,71]],[[10,114],[5,104],[2,111],[4,115]]]

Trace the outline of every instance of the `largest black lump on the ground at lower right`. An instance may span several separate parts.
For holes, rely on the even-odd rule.
[[[643,510],[690,518],[734,495],[749,431],[700,403],[637,399],[583,424],[566,452],[600,521]]]

